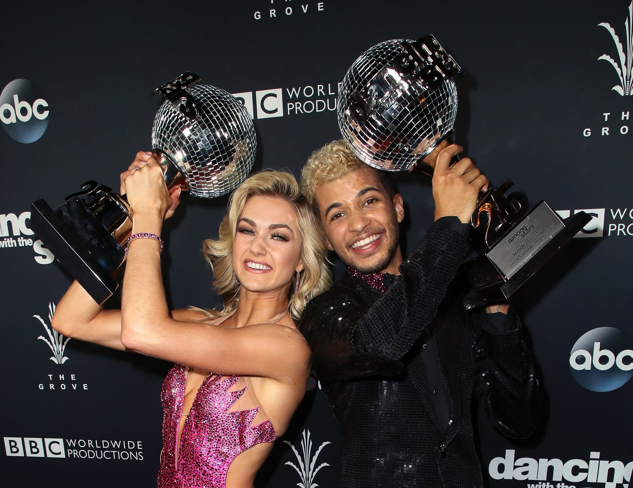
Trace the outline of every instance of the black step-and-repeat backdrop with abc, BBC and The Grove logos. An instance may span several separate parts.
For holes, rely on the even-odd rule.
[[[184,70],[241,97],[256,169],[338,139],[339,82],[380,41],[436,35],[465,68],[457,140],[493,184],[592,221],[515,297],[548,391],[539,431],[511,442],[479,417],[490,487],[627,487],[632,478],[633,13],[630,0],[486,3],[243,0],[4,3],[0,87],[3,486],[151,487],[169,365],[57,335],[70,278],[29,227],[150,147],[154,87]],[[429,182],[401,178],[409,249],[432,220]],[[226,198],[188,196],[168,222],[170,305],[215,306],[199,252]],[[110,306],[116,307],[116,297]],[[261,470],[265,487],[335,487],[337,423],[311,381]]]

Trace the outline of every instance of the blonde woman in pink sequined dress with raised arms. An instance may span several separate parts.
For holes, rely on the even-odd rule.
[[[122,310],[103,310],[74,282],[53,327],[175,363],[161,394],[158,487],[252,487],[306,390],[310,349],[294,321],[331,282],[319,224],[291,174],[252,175],[218,239],[204,241],[222,311],[169,311],[160,233],[180,193],[168,194],[151,153],[138,153],[121,180],[138,236],[128,240]]]

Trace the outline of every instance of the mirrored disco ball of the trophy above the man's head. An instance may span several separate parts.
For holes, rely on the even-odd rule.
[[[380,42],[343,78],[341,134],[358,158],[387,171],[411,170],[453,129],[461,68],[437,43]]]

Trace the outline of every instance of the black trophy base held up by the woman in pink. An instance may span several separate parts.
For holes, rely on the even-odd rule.
[[[53,210],[43,199],[31,205],[30,225],[66,270],[98,304],[118,288],[112,273],[125,251],[78,197]]]

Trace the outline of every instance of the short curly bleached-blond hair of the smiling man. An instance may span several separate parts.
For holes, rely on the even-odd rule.
[[[315,194],[320,185],[338,180],[356,170],[367,168],[371,166],[358,159],[345,139],[329,142],[321,149],[314,151],[301,169],[301,192],[316,208]],[[375,171],[389,196],[394,196],[395,184],[389,173]]]

